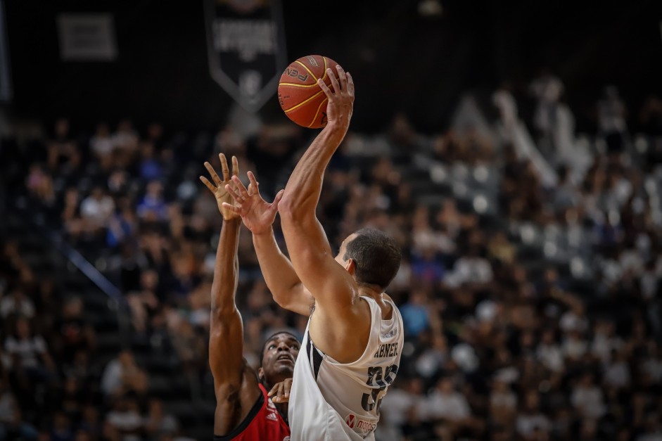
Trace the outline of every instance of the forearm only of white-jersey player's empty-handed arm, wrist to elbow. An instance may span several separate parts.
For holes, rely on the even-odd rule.
[[[265,277],[274,300],[279,304],[281,301],[287,302],[290,300],[293,288],[301,281],[290,260],[281,253],[274,230],[269,229],[269,232],[264,234],[253,234],[253,245],[257,260],[260,262],[262,276]]]

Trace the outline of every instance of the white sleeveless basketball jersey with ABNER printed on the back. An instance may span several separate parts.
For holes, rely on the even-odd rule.
[[[338,363],[318,350],[308,333],[308,319],[290,392],[292,441],[374,440],[381,400],[395,380],[405,339],[402,316],[393,302],[393,317],[383,320],[377,302],[361,298],[370,306],[370,336],[353,363]]]

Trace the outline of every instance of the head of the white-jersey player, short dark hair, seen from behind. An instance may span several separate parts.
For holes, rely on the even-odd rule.
[[[400,248],[392,238],[374,228],[350,234],[340,245],[336,262],[350,271],[359,285],[385,290],[400,268]]]

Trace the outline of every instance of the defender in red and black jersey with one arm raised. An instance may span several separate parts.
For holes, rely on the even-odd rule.
[[[243,358],[243,324],[234,302],[241,218],[233,210],[223,207],[223,203],[231,204],[233,200],[225,189],[225,185],[231,183],[227,160],[222,154],[219,158],[223,179],[209,162],[205,162],[205,167],[215,184],[200,177],[214,193],[223,215],[212,282],[209,336],[209,364],[216,395],[214,440],[289,441],[288,391],[284,385],[288,385],[285,381],[292,378],[300,344],[291,333],[272,335],[262,348],[262,362],[257,373]],[[236,176],[237,173],[237,160],[233,157],[232,174]],[[257,188],[249,188],[249,191],[257,192]],[[280,196],[274,203],[263,203],[253,210],[253,214],[260,218],[259,222],[271,226]],[[273,400],[270,395],[274,395]]]

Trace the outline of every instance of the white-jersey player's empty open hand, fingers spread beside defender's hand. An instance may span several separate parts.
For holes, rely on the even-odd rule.
[[[226,184],[225,189],[234,198],[234,205],[223,203],[223,207],[240,216],[243,224],[253,234],[267,233],[276,219],[278,203],[283,197],[284,190],[276,194],[274,202],[268,203],[260,196],[260,188],[253,172],[248,172],[248,181],[250,184],[246,190],[236,175],[232,177],[233,185]]]

